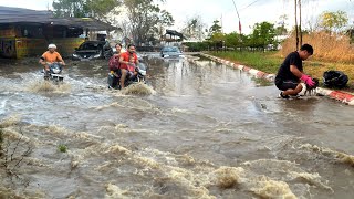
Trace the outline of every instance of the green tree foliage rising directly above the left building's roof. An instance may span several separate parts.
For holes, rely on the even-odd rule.
[[[119,4],[118,0],[54,0],[53,13],[58,18],[104,18]]]

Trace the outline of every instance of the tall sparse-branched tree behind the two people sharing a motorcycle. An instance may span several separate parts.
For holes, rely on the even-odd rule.
[[[158,35],[160,27],[174,23],[171,14],[162,10],[154,0],[124,0],[124,6],[136,44],[148,42],[153,35]]]

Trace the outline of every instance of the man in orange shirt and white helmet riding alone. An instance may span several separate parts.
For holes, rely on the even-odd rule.
[[[61,65],[65,65],[64,60],[62,56],[56,52],[56,45],[51,43],[48,45],[48,51],[42,54],[40,57],[39,63],[41,63],[44,67],[44,75],[48,76],[50,71],[50,64],[58,62]]]

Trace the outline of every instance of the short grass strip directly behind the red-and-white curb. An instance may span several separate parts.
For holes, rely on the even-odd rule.
[[[284,57],[279,52],[209,52],[214,56],[218,56],[233,63],[243,64],[249,67],[277,74]],[[325,71],[335,70],[343,71],[348,76],[347,87],[343,88],[347,92],[354,92],[354,63],[330,62],[322,60],[314,60],[310,57],[303,62],[304,72],[312,77],[319,78],[320,83],[323,81],[323,73]]]

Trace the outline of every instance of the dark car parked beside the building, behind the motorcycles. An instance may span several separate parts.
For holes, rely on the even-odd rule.
[[[110,59],[113,50],[106,41],[85,41],[75,49],[72,59],[80,61],[90,61],[97,59]]]

